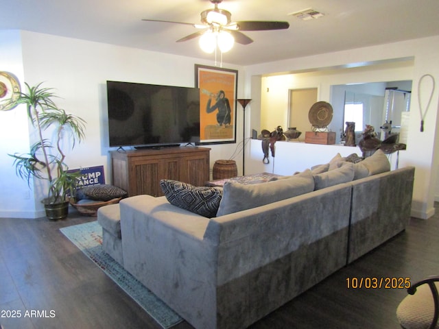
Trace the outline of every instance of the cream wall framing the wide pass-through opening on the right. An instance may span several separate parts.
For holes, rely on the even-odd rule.
[[[425,118],[425,131],[420,132],[417,86],[420,77],[426,73],[433,75],[436,78],[436,82],[439,80],[438,57],[439,36],[434,36],[431,38],[394,42],[374,47],[364,47],[361,49],[325,53],[318,56],[246,66],[246,74],[248,75],[246,82],[252,83],[252,85],[247,88],[250,88],[252,93],[257,95],[258,89],[261,89],[261,77],[265,75],[269,75],[270,80],[273,80],[274,77],[271,75],[275,75],[276,73],[285,75],[285,73],[313,72],[315,74],[315,80],[313,83],[310,83],[309,80],[305,80],[305,87],[309,88],[313,86],[313,84],[314,86],[318,86],[319,99],[328,101],[331,99],[330,87],[333,84],[412,80],[413,90],[412,103],[410,105],[407,151],[401,154],[399,165],[400,167],[405,165],[416,167],[412,215],[427,219],[431,217],[431,215],[434,215],[436,171],[439,164],[438,152],[436,151],[439,101],[438,88],[436,88],[433,98],[431,99],[431,106],[427,117]],[[405,66],[404,63],[406,62],[409,63],[408,66]],[[349,70],[346,70],[349,67],[366,66],[370,64],[378,65],[372,66],[372,69],[365,68],[364,73],[361,74],[357,72],[351,74]],[[385,70],[382,71],[379,69],[381,65],[390,66],[389,69],[384,68]],[[339,69],[344,69],[344,71],[332,74],[332,72],[336,72]],[[331,73],[331,75],[327,73]],[[281,84],[285,84],[285,77],[282,79]],[[288,99],[287,89],[292,86],[294,86],[294,88],[300,88],[301,84],[303,84],[302,81],[294,80],[294,83],[289,82],[283,86],[284,91],[280,93],[281,99],[276,100],[278,104],[280,104],[278,108],[286,109]],[[262,93],[264,90],[262,90]],[[422,97],[421,99],[428,99],[429,90],[420,90],[420,97]],[[427,100],[425,100],[425,103],[427,103]],[[250,119],[252,127],[259,129],[259,126],[263,125],[263,123],[260,122],[261,119],[259,119],[261,116],[261,101],[253,103],[252,116],[254,116]],[[285,145],[285,147],[288,148],[288,144]],[[293,150],[289,150],[289,154],[291,154],[292,160],[295,156],[300,156],[300,154],[295,154]],[[246,160],[246,167],[250,168],[252,163],[258,165],[257,163],[259,163],[260,160],[260,157],[249,154],[249,159]],[[279,164],[277,163],[276,165]],[[289,162],[284,161],[283,164],[280,165],[287,166]]]

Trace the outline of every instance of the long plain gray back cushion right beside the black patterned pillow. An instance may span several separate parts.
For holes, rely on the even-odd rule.
[[[309,193],[314,189],[311,171],[261,184],[243,185],[226,182],[217,216],[256,208],[289,197]]]

